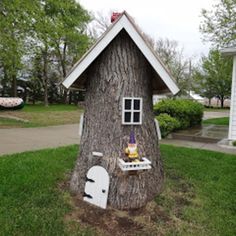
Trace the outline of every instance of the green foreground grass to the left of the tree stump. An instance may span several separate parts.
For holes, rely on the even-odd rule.
[[[77,152],[70,146],[0,157],[0,235],[70,235],[63,220],[69,194],[58,183]]]

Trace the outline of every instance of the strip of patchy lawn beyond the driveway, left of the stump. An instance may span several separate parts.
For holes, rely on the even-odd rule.
[[[75,105],[25,105],[22,110],[0,111],[0,128],[75,124],[81,112],[83,110]],[[18,118],[23,121],[16,120]]]

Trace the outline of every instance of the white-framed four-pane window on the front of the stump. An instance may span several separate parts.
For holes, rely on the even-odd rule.
[[[142,124],[142,98],[123,98],[122,124],[141,125]]]

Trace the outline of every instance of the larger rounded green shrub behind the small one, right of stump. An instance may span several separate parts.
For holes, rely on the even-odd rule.
[[[154,106],[154,113],[166,113],[180,122],[181,129],[186,129],[201,124],[203,105],[187,99],[165,99]]]

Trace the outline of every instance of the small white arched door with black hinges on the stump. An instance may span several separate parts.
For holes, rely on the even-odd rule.
[[[109,190],[109,175],[101,166],[93,166],[86,176],[84,201],[106,208]]]

